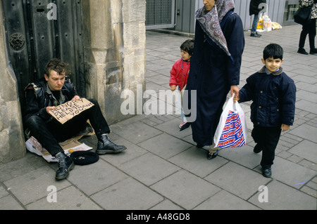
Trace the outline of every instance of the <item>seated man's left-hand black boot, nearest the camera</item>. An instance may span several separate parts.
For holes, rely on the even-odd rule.
[[[56,180],[62,180],[66,178],[69,174],[69,171],[73,169],[74,167],[74,162],[70,157],[68,157],[66,154],[63,152],[58,152],[55,156],[57,158],[58,162],[58,168],[56,171]]]

